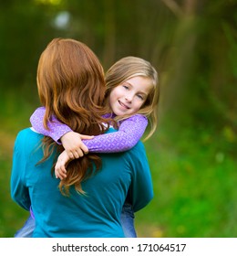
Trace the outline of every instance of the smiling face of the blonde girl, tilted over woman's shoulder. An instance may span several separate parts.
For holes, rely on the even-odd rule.
[[[137,76],[115,87],[109,95],[109,105],[116,115],[134,114],[139,111],[153,88],[151,80]]]

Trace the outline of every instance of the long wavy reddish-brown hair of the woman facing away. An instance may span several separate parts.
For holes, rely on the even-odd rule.
[[[61,123],[66,123],[77,133],[97,135],[107,129],[102,116],[106,83],[103,68],[85,44],[74,39],[55,38],[41,54],[37,69],[37,88],[40,101],[46,107],[44,126],[55,115]],[[43,140],[44,158],[53,154],[53,148],[63,150],[51,138]],[[83,193],[81,182],[88,178],[94,167],[100,168],[98,155],[88,154],[67,165],[67,178],[59,188],[63,195],[69,195],[69,187],[74,185]],[[53,166],[54,167],[54,166]]]

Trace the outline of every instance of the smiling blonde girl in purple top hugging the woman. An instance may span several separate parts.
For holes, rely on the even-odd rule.
[[[66,149],[59,155],[56,176],[67,176],[66,165],[70,159],[91,153],[115,153],[127,151],[139,142],[149,122],[148,139],[157,126],[157,105],[159,101],[158,75],[144,59],[127,57],[118,60],[106,73],[106,101],[108,117],[118,123],[117,133],[87,136],[74,133],[56,118],[43,123],[45,109],[38,108],[31,116],[33,128],[38,133],[53,138]],[[83,141],[81,141],[83,139]],[[121,223],[126,237],[136,237],[134,215],[129,202],[125,203]]]

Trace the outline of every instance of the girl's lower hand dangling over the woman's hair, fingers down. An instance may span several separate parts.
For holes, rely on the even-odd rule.
[[[57,163],[55,165],[55,176],[61,180],[67,177],[67,164],[71,161],[70,157],[67,155],[67,151],[64,150],[58,157]]]

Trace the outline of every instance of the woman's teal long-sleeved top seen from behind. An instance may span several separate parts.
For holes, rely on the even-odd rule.
[[[13,198],[35,214],[34,237],[124,237],[119,219],[127,195],[135,211],[153,196],[143,145],[100,155],[102,169],[81,184],[86,194],[70,187],[65,197],[57,187],[59,180],[51,176],[54,155],[36,165],[43,156],[42,148],[36,150],[42,137],[29,128],[18,134],[12,173]]]

